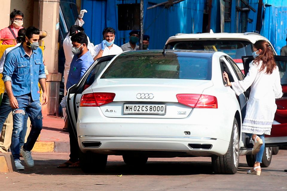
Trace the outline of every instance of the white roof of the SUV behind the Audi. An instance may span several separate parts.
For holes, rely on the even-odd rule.
[[[267,38],[261,36],[258,33],[213,33],[210,30],[210,33],[196,33],[196,34],[186,34],[178,33],[175,36],[171,36],[167,39],[166,44],[176,41],[189,41],[189,40],[243,40],[248,41],[254,44],[258,40],[266,40]],[[269,44],[271,44],[269,42]]]

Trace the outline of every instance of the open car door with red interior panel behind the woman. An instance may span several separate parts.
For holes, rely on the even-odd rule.
[[[245,76],[253,56],[242,56]],[[279,68],[283,97],[276,99],[277,111],[271,129],[271,135],[265,135],[265,146],[286,146],[287,145],[287,56],[275,56],[275,62]]]

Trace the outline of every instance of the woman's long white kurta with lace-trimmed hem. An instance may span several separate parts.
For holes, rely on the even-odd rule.
[[[272,74],[265,74],[266,68],[260,71],[262,61],[253,64],[242,81],[231,82],[236,95],[242,94],[251,86],[242,132],[256,135],[270,135],[277,109],[275,98],[282,97],[282,86],[278,67]]]

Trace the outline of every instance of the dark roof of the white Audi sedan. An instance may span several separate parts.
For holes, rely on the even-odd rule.
[[[141,51],[126,51],[120,54],[121,56],[163,56],[164,50],[141,50]],[[197,51],[197,50],[165,50],[165,56],[190,56],[211,58],[214,51]]]

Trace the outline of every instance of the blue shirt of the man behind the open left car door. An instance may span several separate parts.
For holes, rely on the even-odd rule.
[[[78,54],[74,55],[66,84],[67,91],[72,85],[79,82],[93,62],[94,59],[89,51],[80,58],[78,58]]]

